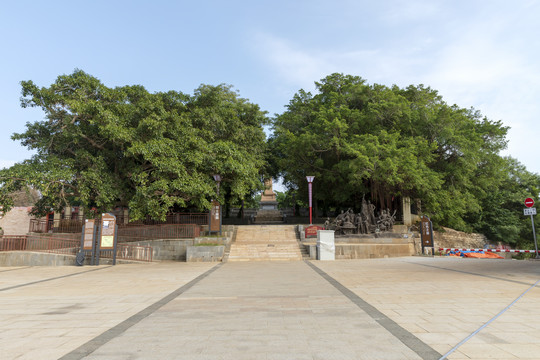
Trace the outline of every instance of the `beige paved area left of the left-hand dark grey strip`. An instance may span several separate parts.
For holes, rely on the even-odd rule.
[[[0,268],[0,359],[58,359],[212,266]]]

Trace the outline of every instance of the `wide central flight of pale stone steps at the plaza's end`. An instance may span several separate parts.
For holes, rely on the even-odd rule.
[[[307,254],[294,225],[238,226],[227,261],[291,261]]]

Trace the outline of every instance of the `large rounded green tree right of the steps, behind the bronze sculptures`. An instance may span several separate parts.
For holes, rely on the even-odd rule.
[[[466,219],[504,179],[507,128],[474,109],[446,104],[431,88],[369,85],[332,74],[300,90],[274,122],[270,146],[290,188],[323,206],[381,208],[398,196],[420,199],[440,225],[472,230]]]

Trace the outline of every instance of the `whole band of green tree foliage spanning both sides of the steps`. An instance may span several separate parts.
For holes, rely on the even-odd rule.
[[[306,202],[305,177],[314,175],[315,204],[326,209],[358,209],[365,196],[399,208],[410,197],[436,225],[512,244],[530,238],[522,202],[537,198],[540,176],[500,155],[508,127],[430,87],[331,74],[314,94],[293,96],[266,140],[266,113],[227,85],[150,93],[109,88],[80,70],[49,87],[21,84],[21,105],[45,119],[12,136],[35,155],[0,170],[5,210],[16,191],[31,189],[40,194],[36,215],[69,204],[163,219],[175,208],[208,209],[213,174],[228,204],[252,200],[268,175],[289,188],[282,202]]]

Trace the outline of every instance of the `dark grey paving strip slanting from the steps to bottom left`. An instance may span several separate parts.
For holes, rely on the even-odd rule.
[[[116,338],[117,336],[120,336],[125,331],[127,331],[132,326],[138,324],[140,321],[144,320],[146,317],[152,315],[154,312],[159,310],[161,307],[167,305],[172,300],[176,299],[180,295],[182,295],[187,290],[191,289],[194,285],[196,285],[199,281],[216,271],[218,268],[220,268],[223,265],[223,263],[219,263],[216,266],[212,267],[210,270],[207,270],[205,273],[197,276],[195,279],[191,280],[187,284],[182,285],[178,289],[171,292],[169,295],[166,295],[161,300],[156,301],[155,303],[149,305],[145,309],[139,311],[135,315],[130,316],[126,320],[122,321],[118,325],[110,328],[109,330],[105,331],[101,335],[96,336],[95,338],[89,340],[85,344],[79,346],[75,350],[67,353],[66,355],[59,358],[59,360],[79,360],[83,359],[84,357],[90,355],[112,339]]]

